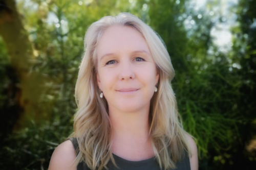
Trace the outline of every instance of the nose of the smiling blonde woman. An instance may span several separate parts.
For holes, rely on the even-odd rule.
[[[135,78],[134,69],[130,60],[121,61],[119,67],[119,80],[132,80]]]

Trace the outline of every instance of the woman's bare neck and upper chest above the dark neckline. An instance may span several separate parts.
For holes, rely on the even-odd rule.
[[[154,151],[149,137],[149,106],[135,112],[122,112],[109,107],[112,125],[112,153],[127,160],[152,158]]]

